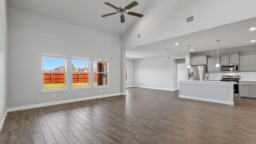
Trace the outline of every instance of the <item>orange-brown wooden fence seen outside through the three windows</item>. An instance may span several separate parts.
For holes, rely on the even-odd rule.
[[[88,82],[88,74],[74,73],[72,74],[73,83]],[[98,82],[98,74],[94,74],[94,82]],[[44,73],[44,84],[65,83],[65,74],[60,73]]]

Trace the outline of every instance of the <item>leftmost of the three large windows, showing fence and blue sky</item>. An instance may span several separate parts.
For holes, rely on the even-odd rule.
[[[67,89],[67,57],[58,54],[42,54],[42,91]]]

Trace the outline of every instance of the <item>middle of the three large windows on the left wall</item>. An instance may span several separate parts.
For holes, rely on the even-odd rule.
[[[72,88],[90,87],[90,58],[72,56]]]

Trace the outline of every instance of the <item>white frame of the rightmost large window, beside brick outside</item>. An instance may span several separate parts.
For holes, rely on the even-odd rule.
[[[101,86],[94,86],[94,83],[93,83],[93,88],[108,88],[109,87],[109,60],[107,59],[101,59],[101,58],[94,58],[93,59],[93,64],[94,62],[105,62],[106,63],[106,72],[94,72],[94,68],[93,68],[93,77],[94,77],[94,74],[106,74],[106,85],[101,85]]]

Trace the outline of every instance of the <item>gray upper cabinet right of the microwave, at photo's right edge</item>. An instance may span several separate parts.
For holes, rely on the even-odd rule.
[[[256,71],[256,54],[240,56],[240,71]]]

